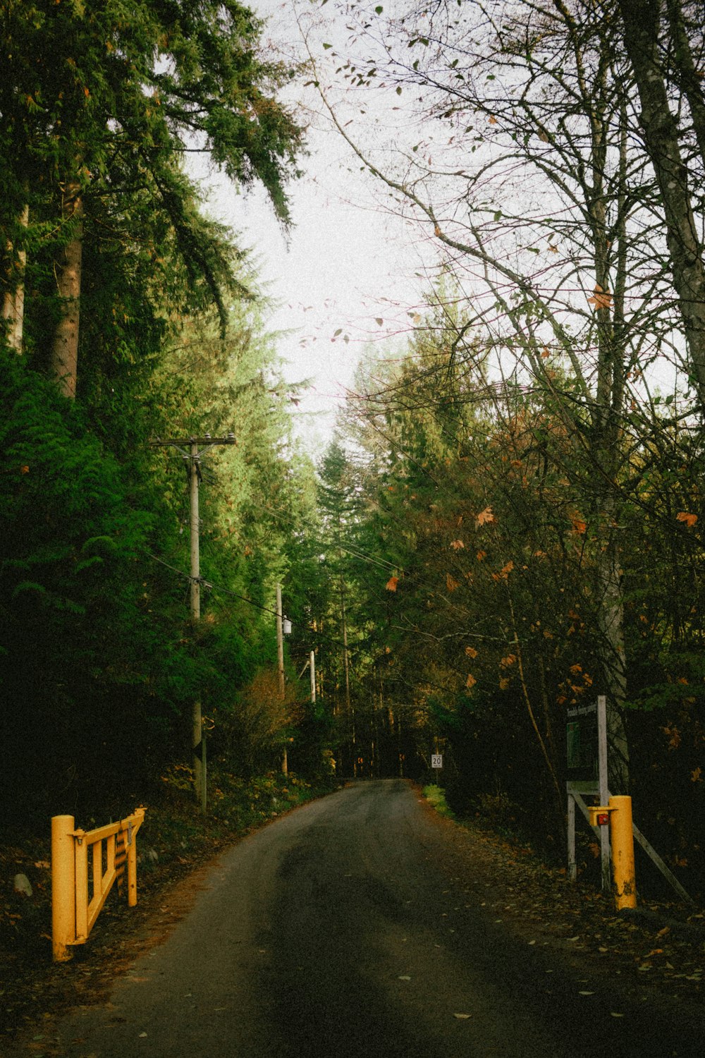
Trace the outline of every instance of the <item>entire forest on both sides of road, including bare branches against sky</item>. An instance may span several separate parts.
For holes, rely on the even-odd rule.
[[[296,70],[234,2],[0,20],[13,810],[188,787],[198,700],[236,773],[285,750],[310,777],[426,781],[442,752],[457,811],[560,858],[568,711],[601,694],[612,791],[702,891],[699,4],[315,5]],[[242,238],[184,165],[209,151],[287,224],[292,78],[440,261],[318,464]],[[413,99],[403,134],[366,135],[375,94]],[[230,432],[199,467],[194,621],[196,467],[154,442]]]

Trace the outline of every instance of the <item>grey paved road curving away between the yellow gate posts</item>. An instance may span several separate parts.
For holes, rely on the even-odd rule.
[[[60,1053],[705,1054],[702,1037],[644,1004],[612,1018],[608,983],[605,996],[580,997],[586,985],[548,949],[512,938],[477,898],[468,907],[462,880],[444,869],[446,842],[395,780],[359,783],[292,813],[222,857],[191,913],[138,959],[109,1004],[60,1024]]]

